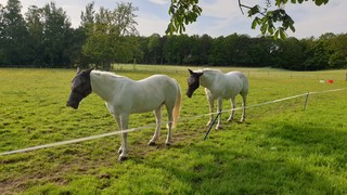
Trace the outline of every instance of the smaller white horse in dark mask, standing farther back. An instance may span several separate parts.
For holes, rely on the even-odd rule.
[[[193,92],[200,84],[205,87],[205,92],[209,103],[210,117],[207,126],[214,121],[214,103],[218,102],[218,112],[222,110],[222,99],[230,99],[232,109],[228,121],[232,121],[234,118],[235,109],[235,96],[240,93],[243,99],[243,114],[241,121],[246,118],[246,99],[248,94],[248,80],[247,77],[240,72],[230,72],[227,74],[217,69],[202,69],[193,72],[189,69],[190,77],[188,78],[187,95],[192,98]],[[218,123],[216,129],[221,129],[221,115],[218,117]]]

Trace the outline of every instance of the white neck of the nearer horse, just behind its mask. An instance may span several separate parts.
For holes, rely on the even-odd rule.
[[[115,95],[115,91],[119,89],[120,84],[123,84],[123,82],[117,82],[117,79],[120,80],[124,78],[102,74],[90,74],[92,91],[101,96],[105,102],[110,102]]]

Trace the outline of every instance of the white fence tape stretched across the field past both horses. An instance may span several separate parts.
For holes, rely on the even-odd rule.
[[[300,98],[300,96],[305,96],[308,93],[309,94],[329,93],[329,92],[343,91],[343,90],[346,90],[346,89],[347,88],[333,89],[333,90],[327,90],[327,91],[307,92],[307,93],[303,93],[303,94],[298,94],[298,95],[287,96],[287,98],[283,98],[283,99],[278,99],[278,100],[273,100],[273,101],[269,101],[269,102],[265,102],[265,103],[259,103],[259,104],[246,106],[246,108],[259,107],[259,106],[267,105],[267,104],[273,104],[273,103],[283,102],[283,101],[287,101],[287,100],[292,100],[292,99],[297,99],[297,98]],[[243,107],[236,107],[236,108],[234,108],[234,110],[242,109],[242,108]],[[230,110],[232,110],[232,109],[222,110],[222,113],[230,112]],[[204,116],[209,116],[210,114],[211,113],[203,114],[203,115],[198,115],[198,116],[194,116],[194,117],[187,117],[187,118],[180,119],[180,121],[190,120],[190,119],[194,119],[194,118],[200,118],[200,117],[204,117]],[[217,113],[213,113],[213,114],[217,114]],[[27,147],[27,148],[22,148],[22,150],[15,150],[15,151],[10,151],[10,152],[3,152],[3,153],[0,153],[0,156],[10,155],[10,154],[17,154],[17,153],[25,153],[25,152],[29,152],[29,151],[36,151],[36,150],[40,150],[40,148],[47,148],[47,147],[53,147],[53,146],[60,146],[60,145],[66,145],[66,144],[83,142],[83,141],[88,141],[88,140],[95,140],[95,139],[100,139],[100,138],[121,134],[121,133],[125,133],[125,132],[132,132],[132,131],[139,131],[139,130],[143,130],[143,129],[149,129],[149,128],[153,128],[153,127],[155,127],[155,123],[149,125],[149,126],[139,127],[139,128],[132,128],[132,129],[120,130],[120,131],[118,130],[118,131],[113,131],[113,132],[108,132],[108,133],[103,133],[103,134],[97,134],[97,135],[92,135],[92,136],[75,139],[75,140],[55,142],[55,143],[51,143],[51,144],[43,144],[43,145],[38,145],[38,146]]]

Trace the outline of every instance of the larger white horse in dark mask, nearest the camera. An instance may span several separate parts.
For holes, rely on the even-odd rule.
[[[77,109],[79,102],[92,91],[105,101],[120,130],[128,129],[130,114],[154,110],[156,130],[149,145],[154,145],[159,136],[162,107],[165,105],[168,116],[165,144],[171,144],[171,128],[176,127],[181,107],[181,90],[175,79],[165,75],[154,75],[136,81],[107,72],[92,69],[78,72],[73,80],[72,93],[66,105]],[[118,153],[120,161],[127,159],[126,132],[121,134]]]

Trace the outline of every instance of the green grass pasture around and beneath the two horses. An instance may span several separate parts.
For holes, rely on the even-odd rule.
[[[185,94],[188,67],[116,65],[116,74],[142,79],[166,74]],[[196,69],[191,67],[192,69]],[[261,68],[249,79],[248,105],[312,91],[346,88],[346,70],[296,73]],[[77,110],[66,107],[73,69],[0,69],[0,153],[117,130],[94,93]],[[320,83],[334,79],[334,83]],[[0,156],[1,194],[346,194],[347,90],[254,106],[246,121],[207,128],[203,88],[183,95],[172,145],[166,128],[147,146],[154,126],[130,132],[129,159],[118,162],[120,136]],[[241,106],[241,96],[236,98]],[[223,109],[230,102],[223,102]],[[166,119],[164,112],[164,119]],[[130,116],[129,128],[152,126],[153,113]]]

